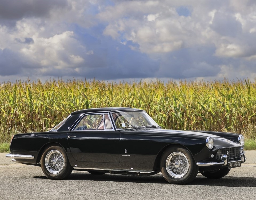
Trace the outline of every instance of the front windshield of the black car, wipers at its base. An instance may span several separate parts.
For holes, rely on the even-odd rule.
[[[159,125],[143,111],[125,111],[112,113],[117,129],[138,127],[159,127]],[[160,128],[160,127],[159,127]]]

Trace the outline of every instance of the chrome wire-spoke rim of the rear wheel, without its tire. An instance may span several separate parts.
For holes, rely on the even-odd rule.
[[[52,174],[58,174],[64,167],[64,158],[58,150],[51,150],[45,157],[46,169]]]

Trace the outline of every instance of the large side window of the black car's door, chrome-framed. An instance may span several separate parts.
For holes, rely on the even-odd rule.
[[[74,131],[82,131],[87,129],[104,129],[103,114],[85,115],[83,119],[77,124]]]

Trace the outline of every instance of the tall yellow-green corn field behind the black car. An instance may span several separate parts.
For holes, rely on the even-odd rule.
[[[256,124],[256,82],[40,80],[0,84],[0,142],[11,132],[46,131],[72,111],[134,107],[163,128],[242,132]],[[255,135],[253,135],[255,139]]]

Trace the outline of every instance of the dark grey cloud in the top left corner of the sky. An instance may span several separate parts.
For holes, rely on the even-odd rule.
[[[66,6],[66,0],[1,0],[0,20],[7,23],[8,20],[12,22],[24,17],[43,17],[47,16],[51,9]]]

